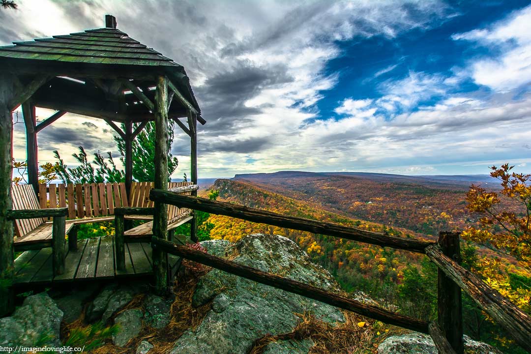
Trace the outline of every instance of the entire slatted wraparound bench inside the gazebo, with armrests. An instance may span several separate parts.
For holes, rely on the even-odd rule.
[[[192,185],[192,182],[169,182],[168,188]],[[76,249],[77,225],[115,220],[116,211],[121,210],[116,214],[115,220],[118,260],[118,255],[124,253],[125,238],[128,241],[139,242],[151,238],[152,221],[149,220],[153,219],[154,204],[149,200],[149,192],[152,186],[153,183],[150,182],[133,182],[130,198],[126,198],[125,183],[50,184],[49,186],[40,184],[37,198],[31,185],[13,185],[13,212],[20,211],[12,215],[15,221],[15,251],[52,247],[54,272],[62,274],[65,235],[68,235],[68,247]],[[192,186],[192,189],[185,193],[190,194],[196,189],[196,186]],[[69,220],[65,220],[66,216]],[[50,217],[54,217],[53,221],[48,221]],[[192,218],[190,209],[168,206],[168,230],[173,230]],[[125,231],[124,220],[148,220],[148,222]]]

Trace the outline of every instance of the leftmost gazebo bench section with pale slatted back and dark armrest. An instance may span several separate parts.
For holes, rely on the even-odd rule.
[[[64,272],[65,235],[73,222],[66,222],[67,208],[42,209],[31,185],[11,187],[13,209],[10,219],[15,223],[13,246],[15,252],[52,247],[54,274]],[[53,217],[53,221],[46,221]]]

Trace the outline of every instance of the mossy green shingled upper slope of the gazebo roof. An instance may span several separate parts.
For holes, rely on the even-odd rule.
[[[178,66],[116,28],[99,28],[0,47],[0,56],[93,64]]]

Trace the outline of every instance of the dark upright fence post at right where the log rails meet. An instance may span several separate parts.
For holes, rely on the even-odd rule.
[[[457,263],[461,262],[459,232],[440,232],[439,246],[444,255]],[[438,314],[439,327],[457,354],[463,354],[463,309],[461,288],[438,270]]]

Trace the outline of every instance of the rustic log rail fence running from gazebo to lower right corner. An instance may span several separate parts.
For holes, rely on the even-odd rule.
[[[459,265],[459,233],[440,232],[437,243],[393,237],[378,232],[358,230],[330,222],[315,221],[289,217],[269,211],[247,208],[225,202],[212,201],[196,196],[177,195],[161,189],[151,189],[150,200],[156,203],[175,205],[212,214],[226,215],[252,222],[285,227],[294,230],[309,231],[345,238],[349,240],[405,249],[426,254],[438,266],[438,320],[426,322],[417,318],[390,312],[377,306],[370,306],[324,291],[307,284],[265,273],[249,266],[227,261],[194,249],[174,244],[154,233],[151,241],[153,251],[159,254],[174,254],[222,271],[238,275],[262,284],[296,293],[321,301],[354,313],[374,318],[387,324],[404,327],[421,333],[430,334],[436,348],[441,354],[463,354],[463,317],[461,309],[461,290],[468,293],[477,305],[496,322],[504,327],[515,341],[525,350],[531,352],[531,317],[513,305],[498,291],[490,288],[474,274]],[[162,236],[162,237],[160,237]],[[155,265],[154,265],[155,266]],[[155,277],[162,277],[165,272],[153,270]],[[158,275],[158,274],[161,275]],[[165,279],[156,279],[161,284]]]

